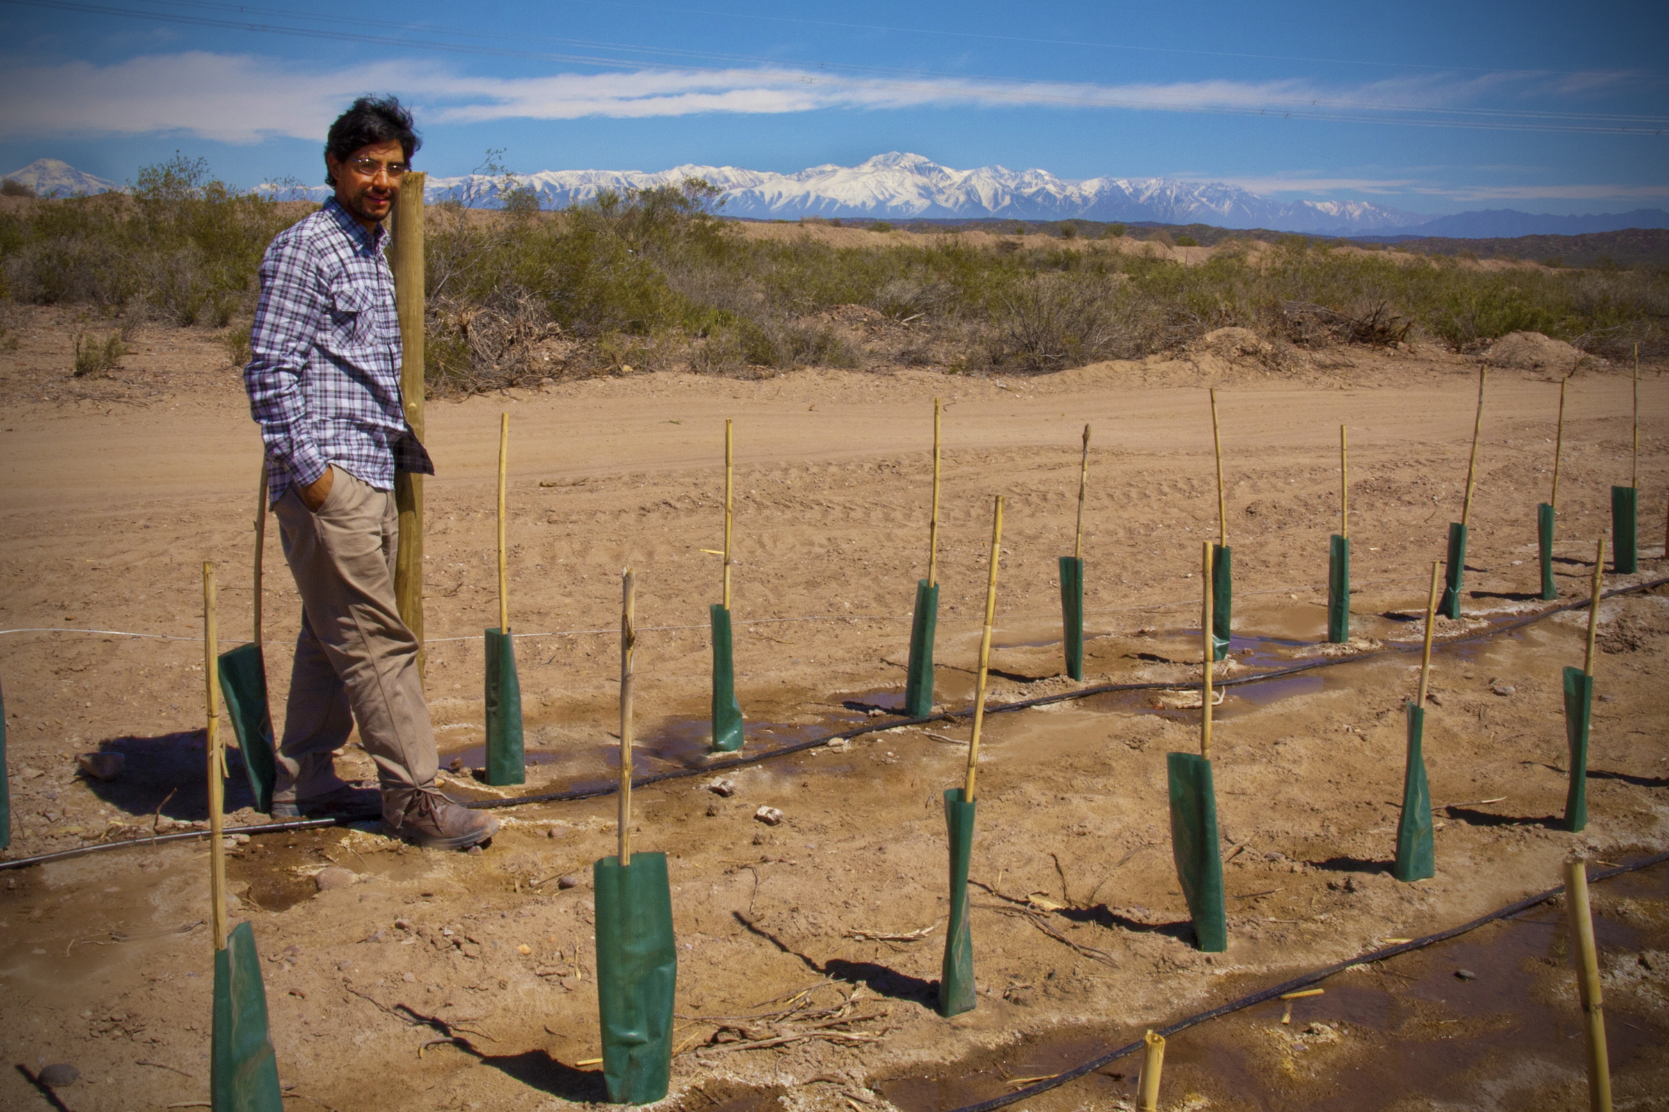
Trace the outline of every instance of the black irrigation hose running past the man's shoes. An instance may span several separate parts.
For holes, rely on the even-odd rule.
[[[1617,594],[1636,594],[1639,591],[1652,591],[1652,589],[1661,588],[1664,584],[1669,584],[1669,576],[1662,576],[1662,578],[1657,578],[1657,579],[1649,579],[1649,581],[1644,581],[1644,583],[1634,583],[1634,584],[1624,586],[1624,588],[1612,588],[1611,591],[1606,591],[1604,594],[1601,594],[1601,599],[1614,598]],[[1512,621],[1505,621],[1505,623],[1502,623],[1502,624],[1499,624],[1499,626],[1495,626],[1492,629],[1482,629],[1479,633],[1470,633],[1470,634],[1467,634],[1464,638],[1454,638],[1450,641],[1442,641],[1442,643],[1435,644],[1434,648],[1449,648],[1450,644],[1469,644],[1469,643],[1474,643],[1474,641],[1487,641],[1489,638],[1499,636],[1502,633],[1512,633],[1514,629],[1522,629],[1524,626],[1529,626],[1529,624],[1534,624],[1537,621],[1542,621],[1544,618],[1552,618],[1554,614],[1562,614],[1562,613],[1572,611],[1572,609],[1587,609],[1587,606],[1589,606],[1589,599],[1581,599],[1581,601],[1576,601],[1576,603],[1566,603],[1562,606],[1551,606],[1547,609],[1535,611],[1534,614],[1524,614],[1522,618],[1515,618]],[[1389,655],[1394,655],[1394,653],[1412,653],[1412,651],[1417,651],[1417,646],[1414,646],[1414,644],[1394,644],[1390,648],[1374,650],[1370,653],[1355,653],[1354,656],[1327,656],[1327,658],[1322,658],[1322,660],[1310,660],[1310,661],[1303,661],[1303,663],[1298,663],[1298,665],[1287,665],[1285,668],[1272,668],[1268,671],[1260,671],[1260,673],[1255,673],[1255,675],[1250,675],[1250,676],[1237,676],[1233,680],[1217,680],[1217,681],[1213,681],[1213,686],[1232,688],[1232,686],[1240,686],[1240,685],[1247,685],[1247,683],[1263,683],[1267,680],[1282,680],[1285,676],[1293,676],[1293,675],[1298,675],[1298,673],[1303,673],[1303,671],[1315,671],[1319,668],[1332,668],[1335,665],[1355,665],[1355,663],[1360,663],[1360,661],[1365,661],[1365,660],[1374,660],[1375,656],[1389,656]],[[1060,691],[1056,695],[1040,695],[1040,696],[1031,698],[1031,700],[1020,700],[1020,701],[1015,701],[1015,703],[1001,703],[998,706],[988,706],[985,710],[985,713],[986,715],[1003,715],[1003,713],[1010,713],[1010,711],[1028,710],[1031,706],[1048,706],[1051,703],[1066,703],[1066,701],[1071,701],[1071,700],[1083,700],[1083,698],[1090,698],[1092,695],[1117,695],[1117,693],[1122,693],[1122,691],[1177,691],[1177,690],[1187,690],[1190,686],[1202,686],[1202,685],[1187,685],[1187,683],[1100,683],[1100,685],[1088,686],[1088,688],[1078,688],[1075,691]],[[761,761],[776,760],[778,756],[789,756],[793,753],[803,753],[806,750],[814,750],[814,748],[824,746],[829,741],[850,741],[851,738],[861,738],[866,733],[885,733],[888,730],[901,730],[901,728],[908,728],[908,726],[925,726],[925,725],[935,723],[935,721],[955,721],[958,718],[971,718],[971,716],[973,716],[973,708],[968,708],[968,710],[943,711],[943,713],[938,713],[938,715],[928,715],[925,718],[896,718],[896,720],[890,720],[890,721],[883,721],[883,723],[866,723],[863,726],[855,726],[851,730],[841,730],[840,733],[829,733],[829,735],[824,735],[821,738],[811,738],[809,741],[796,741],[793,745],[784,745],[781,748],[768,750],[764,753],[751,753],[748,756],[731,756],[731,758],[726,758],[726,760],[708,761],[701,768],[674,768],[674,770],[669,770],[669,771],[664,771],[664,773],[654,773],[654,775],[649,775],[649,776],[643,776],[643,778],[633,780],[631,785],[633,785],[633,788],[646,788],[649,785],[664,783],[668,780],[688,780],[689,776],[706,776],[709,773],[724,771],[728,768],[741,768],[744,765],[758,765]],[[616,781],[609,781],[606,785],[598,785],[594,788],[572,788],[569,791],[539,791],[536,795],[516,795],[516,796],[509,796],[509,798],[502,798],[502,800],[467,800],[462,805],[467,806],[467,808],[471,808],[471,810],[477,810],[479,811],[479,810],[497,810],[497,808],[504,808],[504,806],[527,806],[527,805],[532,805],[532,803],[572,803],[572,801],[577,801],[577,800],[592,800],[592,798],[599,798],[599,796],[614,795],[616,791],[619,791],[619,785]],[[227,826],[222,833],[244,833],[244,835],[284,833],[284,831],[295,831],[295,830],[319,830],[319,828],[324,828],[324,826],[352,826],[354,823],[369,821],[369,820],[371,820],[371,816],[366,816],[366,818],[302,818],[302,820],[284,821],[284,823],[259,823],[259,825],[252,825],[252,826]],[[18,858],[12,858],[12,860],[0,860],[0,872],[5,872],[8,868],[30,868],[33,865],[50,865],[53,862],[67,862],[67,860],[75,858],[75,857],[87,857],[88,853],[103,853],[107,850],[122,850],[122,848],[139,847],[139,845],[159,845],[162,842],[189,842],[189,840],[207,838],[207,837],[209,837],[207,830],[187,830],[187,831],[182,831],[182,833],[154,835],[154,837],[149,837],[149,838],[124,838],[120,842],[98,842],[98,843],[93,843],[93,845],[77,847],[73,850],[58,850],[57,853],[42,853],[38,857],[18,857]],[[991,1105],[991,1107],[996,1107],[996,1105]]]

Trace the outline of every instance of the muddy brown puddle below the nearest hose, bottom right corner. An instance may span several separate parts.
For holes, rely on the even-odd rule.
[[[1669,930],[1641,928],[1606,913],[1617,900],[1651,902],[1656,923],[1669,907],[1669,867],[1619,877],[1592,888],[1601,963],[1662,950]],[[1639,922],[1639,915],[1631,915]],[[1168,1107],[1183,1094],[1222,1109],[1330,1109],[1357,1112],[1425,1107],[1427,1100],[1540,1107],[1534,1085],[1545,1067],[1581,1077],[1586,1052],[1581,1012],[1566,978],[1569,937],[1561,908],[1542,905],[1454,942],[1352,970],[1325,982],[1325,995],[1268,1002],[1173,1035],[1165,1049]],[[1457,970],[1472,977],[1460,978]],[[1225,983],[1230,998],[1253,988]],[[1557,998],[1557,1003],[1547,1003]],[[1662,1069],[1669,1015],[1644,995],[1607,990],[1607,1045],[1614,1084]],[[1314,1025],[1314,1027],[1312,1027]],[[875,1087],[905,1112],[943,1112],[1016,1089],[1016,1079],[1048,1077],[1098,1057],[1140,1032],[1080,1030],[943,1064],[926,1074],[883,1079]],[[1033,1097],[1030,1109],[1105,1107],[1130,1099],[1140,1054],[1100,1074]],[[1522,1079],[1522,1080],[1520,1080]],[[1485,1100],[1487,1099],[1487,1100]]]

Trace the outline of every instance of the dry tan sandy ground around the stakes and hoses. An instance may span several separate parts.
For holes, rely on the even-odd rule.
[[[0,638],[8,853],[20,857],[204,818],[199,561],[220,568],[222,636],[244,636],[257,441],[237,372],[202,332],[140,331],[115,379],[80,382],[67,377],[72,314],[17,314],[13,326],[18,344],[0,352],[0,628],[60,631]],[[925,574],[935,396],[946,402],[938,698],[960,708],[973,690],[998,493],[1008,521],[991,698],[1075,686],[1061,676],[1053,576],[1073,544],[1085,422],[1095,429],[1088,680],[1197,683],[1200,541],[1217,533],[1208,386],[1222,407],[1237,569],[1230,673],[1319,651],[1340,422],[1350,426],[1359,650],[1412,641],[1419,621],[1409,618],[1460,514],[1475,379],[1475,361],[1427,347],[1337,352],[1297,372],[1202,349],[1038,379],[651,374],[431,404],[441,474],[427,486],[427,686],[442,750],[464,768],[447,773],[447,786],[487,793],[467,766],[482,740],[477,638],[496,624],[501,411],[512,431],[511,621],[529,634],[517,655],[537,790],[613,775],[624,566],[639,573],[641,768],[699,765],[706,606],[719,591],[719,561],[701,549],[721,541],[726,416],[738,437],[733,613],[753,750],[885,723],[873,708],[903,685],[908,609]],[[1545,372],[1490,372],[1465,619],[1442,636],[1540,606],[1529,598],[1534,506],[1547,498],[1557,392]],[[1639,392],[1636,579],[1649,579],[1666,574],[1661,367],[1646,369]],[[1586,364],[1571,382],[1559,486],[1566,598],[1586,594],[1594,539],[1609,524],[1606,488],[1629,481],[1629,399],[1617,369]],[[277,543],[267,568],[269,670],[282,706],[297,608]],[[1609,586],[1626,581],[1607,576]],[[1375,656],[1230,690],[1215,735],[1232,895],[1223,955],[1188,943],[1170,862],[1165,753],[1195,748],[1198,713],[1130,695],[991,716],[973,858],[981,995],[955,1020],[930,1003],[946,897],[938,795],[960,783],[965,723],[738,770],[729,798],[708,790],[709,776],[643,790],[638,848],[673,858],[683,1017],[673,1102],[948,1107],[933,1095],[941,1090],[900,1079],[955,1077],[973,1062],[996,1062],[1006,1077],[1053,1072],[1102,1042],[1545,888],[1572,848],[1609,862],[1661,850],[1666,633],[1662,589],[1601,609],[1592,821],[1581,835],[1552,816],[1566,785],[1559,670],[1581,663],[1584,618],[1439,651],[1427,726],[1439,875],[1414,885],[1385,873],[1412,660]],[[77,778],[75,756],[100,748],[127,755],[124,776]],[[342,760],[369,771],[354,746]],[[234,785],[232,805],[242,798]],[[761,805],[786,820],[756,821]],[[586,878],[589,862],[613,853],[613,808],[502,811],[494,845],[469,855],[402,848],[371,828],[237,845],[237,917],[254,922],[265,957],[295,1107],[599,1099],[587,1064],[599,1049]],[[247,808],[234,816],[254,818]],[[354,883],[319,892],[324,867],[349,870]],[[561,877],[579,883],[561,888]],[[204,1100],[205,915],[200,845],[3,873],[8,1060],[75,1064],[82,1082],[63,1100],[85,1112]],[[858,937],[923,928],[920,942]],[[1614,973],[1622,950],[1607,952]],[[1574,1008],[1564,968],[1524,977],[1545,1007]],[[1649,1034],[1619,1065],[1619,1107],[1654,1107],[1669,1080],[1669,973],[1659,957],[1631,977],[1617,990],[1634,993],[1631,1022]],[[728,1049],[804,1032],[808,1012],[823,1008],[846,1008],[843,1037]],[[1210,1030],[1175,1040],[1178,1060],[1193,1055],[1188,1077],[1210,1075]],[[1330,1030],[1337,1045],[1312,1055],[1330,1069],[1384,1049],[1349,1022]],[[1409,1039],[1447,1037],[1434,1032]],[[459,1042],[434,1042],[446,1037]],[[1035,1069],[1030,1049],[1043,1044],[1065,1057]],[[1258,1087],[1285,1084],[1280,1060],[1253,1062],[1243,1085],[1217,1095],[1178,1087],[1167,1107],[1273,1107]],[[1489,1069],[1455,1074],[1445,1095],[1465,1107],[1569,1107],[1581,1070],[1579,1042],[1554,1052],[1509,1042]],[[1077,1095],[1068,1087],[1030,1107],[1120,1107],[1127,1082]],[[30,1092],[22,1074],[0,1074],[5,1107],[45,1107]]]

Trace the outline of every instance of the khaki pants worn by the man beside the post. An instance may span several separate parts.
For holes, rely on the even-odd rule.
[[[319,513],[295,488],[274,504],[284,558],[302,596],[290,698],[279,743],[280,800],[342,781],[330,751],[359,723],[384,790],[434,785],[434,730],[417,675],[417,638],[394,603],[394,494],[332,468]]]

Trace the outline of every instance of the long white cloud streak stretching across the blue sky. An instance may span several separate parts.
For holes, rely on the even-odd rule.
[[[145,55],[112,65],[12,65],[0,72],[0,102],[7,105],[7,112],[0,115],[0,135],[182,132],[224,142],[257,142],[267,135],[319,139],[344,100],[367,88],[402,94],[421,105],[422,117],[432,124],[928,105],[1487,122],[1487,109],[1469,105],[1504,94],[1522,95],[1537,80],[1540,78],[1489,75],[1469,80],[1392,78],[1359,87],[1324,87],[1307,80],[1097,85],[946,77],[880,78],[791,67],[472,77],[432,62],[302,70],[257,55],[194,50]],[[1507,112],[1497,122],[1542,119],[1534,114],[1510,115],[1522,109]]]

